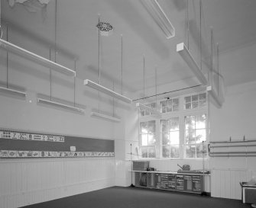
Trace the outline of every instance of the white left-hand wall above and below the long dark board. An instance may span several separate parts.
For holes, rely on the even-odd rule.
[[[5,37],[5,36],[4,36]],[[9,31],[9,40],[41,56],[48,57],[49,49],[22,34]],[[61,54],[58,55],[59,60]],[[7,53],[0,51],[0,85],[6,86]],[[53,57],[52,57],[53,59]],[[73,69],[73,60],[61,59],[63,66]],[[79,74],[79,62],[77,71]],[[112,98],[99,94],[83,85],[83,77],[76,78],[76,104],[86,107],[85,114],[77,114],[57,107],[37,104],[37,94],[50,96],[50,70],[34,62],[8,53],[8,85],[27,92],[25,99],[0,94],[0,127],[28,130],[38,133],[115,139],[115,149],[124,150],[122,140],[125,130],[123,121],[113,123],[90,117],[92,110],[113,114]],[[53,98],[67,104],[74,101],[74,79],[52,72]],[[115,101],[114,113],[122,117],[130,108]],[[122,117],[125,120],[125,117]],[[121,150],[121,152],[122,152]],[[124,158],[116,152],[115,157]],[[86,191],[115,185],[115,158],[42,158],[0,159],[0,207],[25,206],[31,203],[53,200]],[[123,173],[122,173],[123,174]],[[125,177],[124,177],[125,178]],[[123,183],[121,177],[119,183]]]

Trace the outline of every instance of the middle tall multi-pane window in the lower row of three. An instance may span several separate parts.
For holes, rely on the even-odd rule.
[[[163,158],[179,158],[180,127],[179,117],[161,120],[162,156]]]

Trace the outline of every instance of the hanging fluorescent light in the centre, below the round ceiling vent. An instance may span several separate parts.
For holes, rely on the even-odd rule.
[[[103,87],[102,85],[97,84],[96,82],[92,82],[89,79],[85,79],[83,81],[83,85],[87,85],[90,88],[95,88],[98,91],[102,91],[105,94],[109,94],[113,98],[117,98],[120,101],[124,101],[125,103],[131,104],[132,100],[130,98],[126,98],[122,94],[118,94],[115,91],[112,91],[108,88]]]

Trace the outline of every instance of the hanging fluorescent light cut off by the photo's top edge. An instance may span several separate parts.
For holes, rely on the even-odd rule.
[[[167,18],[167,15],[164,13],[163,8],[160,7],[157,0],[141,0],[142,5],[147,9],[151,14],[154,21],[163,30],[167,39],[175,36],[175,29],[170,23],[170,20]]]

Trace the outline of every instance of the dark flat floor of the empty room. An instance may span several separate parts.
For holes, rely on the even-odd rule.
[[[227,200],[198,194],[139,187],[109,187],[65,197],[27,208],[243,208],[251,207],[241,200]]]

